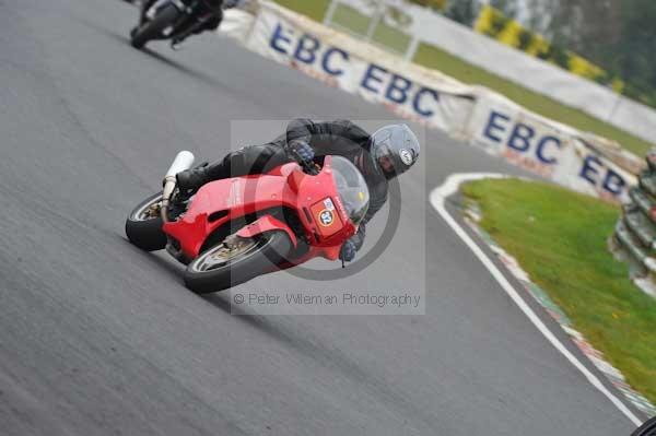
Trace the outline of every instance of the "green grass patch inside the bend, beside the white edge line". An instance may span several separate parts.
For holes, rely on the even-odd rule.
[[[462,187],[481,226],[515,257],[574,327],[656,403],[656,301],[631,283],[606,247],[616,207],[560,187],[516,179]]]

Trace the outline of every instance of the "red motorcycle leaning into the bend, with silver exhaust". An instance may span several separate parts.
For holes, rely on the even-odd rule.
[[[316,257],[337,260],[368,208],[364,177],[341,156],[212,181],[180,201],[175,175],[192,163],[191,153],[178,154],[163,191],[128,216],[126,234],[139,248],[166,248],[187,264],[185,284],[196,293],[225,290]]]

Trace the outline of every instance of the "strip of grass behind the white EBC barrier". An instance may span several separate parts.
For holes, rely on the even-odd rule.
[[[324,15],[328,9],[328,0],[276,0],[279,4],[292,9],[298,13],[307,15],[316,21],[324,21]],[[342,8],[338,8],[338,11]],[[336,14],[336,17],[337,16]],[[366,19],[366,17],[365,17]],[[350,20],[339,17],[343,23],[352,22],[353,26],[362,27],[362,19],[355,16]],[[394,30],[391,30],[394,31]],[[406,42],[399,39],[399,35],[388,28],[376,31],[375,38],[382,45],[387,45],[397,51],[402,51]],[[398,33],[398,31],[395,31]],[[605,137],[619,142],[624,149],[643,156],[651,149],[652,144],[642,140],[624,130],[609,125],[598,118],[591,117],[583,110],[575,109],[571,106],[563,105],[552,98],[549,98],[539,93],[532,92],[519,84],[505,80],[496,74],[493,74],[482,68],[476,67],[462,59],[448,54],[437,47],[422,44],[420,45],[414,59],[414,62],[440,70],[461,82],[469,84],[478,84],[490,87],[512,101],[525,106],[526,108],[540,114],[544,117],[567,123],[579,130],[594,132],[600,137]]]

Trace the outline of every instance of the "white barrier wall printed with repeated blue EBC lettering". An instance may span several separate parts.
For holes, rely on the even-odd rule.
[[[543,118],[487,89],[362,44],[263,2],[241,40],[331,86],[438,128],[571,189],[625,200],[635,178],[597,152],[604,139]],[[591,146],[588,146],[591,145]]]

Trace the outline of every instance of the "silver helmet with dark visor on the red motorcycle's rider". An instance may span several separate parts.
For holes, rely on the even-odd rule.
[[[370,152],[387,178],[406,173],[419,158],[419,140],[407,125],[385,126],[370,141]]]

